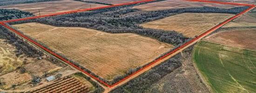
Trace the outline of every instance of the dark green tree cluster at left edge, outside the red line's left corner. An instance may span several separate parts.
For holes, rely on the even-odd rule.
[[[24,17],[34,16],[32,13],[20,11],[17,9],[0,9],[0,21],[12,20]]]

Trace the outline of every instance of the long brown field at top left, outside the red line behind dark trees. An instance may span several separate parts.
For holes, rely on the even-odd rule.
[[[9,6],[2,6],[0,8],[6,8],[6,9],[15,8],[15,9],[31,12],[35,15],[39,15],[39,11],[40,11],[40,14],[44,15],[49,13],[65,12],[65,11],[76,10],[76,9],[85,9],[85,8],[90,8],[90,6],[102,7],[106,5],[86,3],[86,2],[73,1],[73,0],[61,0],[61,1],[30,3],[30,4],[9,5]]]

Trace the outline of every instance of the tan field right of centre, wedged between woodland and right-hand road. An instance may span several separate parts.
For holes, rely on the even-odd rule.
[[[175,30],[186,37],[195,37],[229,19],[234,14],[226,13],[182,13],[151,21],[141,26],[153,29]]]

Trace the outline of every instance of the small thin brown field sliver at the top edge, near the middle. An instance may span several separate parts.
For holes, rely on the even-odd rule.
[[[101,3],[107,3],[107,4],[122,4],[122,3],[134,2],[134,1],[140,1],[140,0],[83,0],[83,1],[97,1]]]

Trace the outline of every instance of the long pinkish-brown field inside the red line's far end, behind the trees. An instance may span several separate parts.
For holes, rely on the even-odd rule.
[[[133,8],[146,10],[146,11],[154,11],[154,10],[166,10],[173,8],[188,8],[188,7],[220,7],[220,8],[231,8],[236,7],[233,5],[222,5],[215,3],[203,3],[203,2],[195,2],[195,1],[184,1],[184,0],[165,0],[158,1],[154,3],[143,4],[139,6],[135,6]]]

